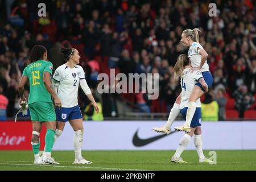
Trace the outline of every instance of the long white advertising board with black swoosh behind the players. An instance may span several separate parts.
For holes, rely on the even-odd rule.
[[[183,132],[175,132],[154,140],[162,135],[152,127],[163,126],[165,121],[102,121],[84,122],[84,141],[82,150],[176,150]],[[172,125],[182,125],[177,121]],[[138,130],[138,138],[133,142]],[[256,121],[242,122],[203,122],[204,150],[256,150]],[[67,123],[63,134],[57,139],[53,150],[73,150],[74,131]],[[147,143],[144,139],[153,138]],[[140,142],[143,146],[136,146]],[[146,144],[147,143],[147,144]],[[188,150],[195,150],[193,138]]]

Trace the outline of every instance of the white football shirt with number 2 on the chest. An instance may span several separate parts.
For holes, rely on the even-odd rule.
[[[57,96],[60,98],[61,106],[77,106],[79,82],[81,79],[85,79],[84,69],[82,69],[80,65],[75,65],[74,68],[69,68],[66,64],[63,64],[56,69],[53,79],[59,81]]]

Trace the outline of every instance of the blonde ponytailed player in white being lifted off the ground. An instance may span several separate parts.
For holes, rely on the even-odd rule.
[[[193,118],[193,115],[196,111],[196,100],[203,96],[204,92],[207,92],[204,90],[203,84],[207,84],[208,88],[212,86],[212,74],[209,72],[209,65],[207,64],[207,57],[208,54],[205,52],[204,48],[199,43],[199,29],[194,28],[193,30],[187,29],[184,30],[181,34],[181,40],[180,42],[183,43],[185,46],[189,47],[188,51],[188,57],[191,61],[192,68],[189,69],[189,71],[201,71],[205,82],[197,82],[195,86],[192,89],[191,97],[189,97],[188,102],[188,111],[187,111],[187,117],[186,122],[183,126],[175,127],[175,130],[182,130],[185,132],[189,132],[191,121]],[[174,122],[174,119],[177,117],[177,115],[180,113],[180,101],[181,101],[181,93],[176,98],[175,104],[171,109],[171,112],[168,117],[168,121],[166,122],[166,125],[164,127],[155,127],[154,130],[158,132],[162,132],[165,134],[169,134],[171,132],[170,127],[172,123]]]

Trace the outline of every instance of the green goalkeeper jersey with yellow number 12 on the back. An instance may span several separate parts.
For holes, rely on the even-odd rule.
[[[30,94],[28,96],[28,104],[34,102],[52,102],[51,94],[46,89],[43,81],[44,72],[52,75],[52,63],[44,60],[37,60],[24,69],[24,76],[30,81]]]

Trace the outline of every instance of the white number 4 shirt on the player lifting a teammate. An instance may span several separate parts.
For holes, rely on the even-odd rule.
[[[185,68],[181,78],[181,102],[180,102],[180,109],[184,107],[188,107],[189,97],[191,96],[192,89],[194,88],[196,82],[198,82],[199,78],[203,78],[201,71],[195,71],[191,73],[189,68]],[[196,100],[196,107],[201,107],[200,98]]]

